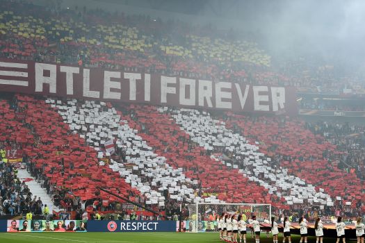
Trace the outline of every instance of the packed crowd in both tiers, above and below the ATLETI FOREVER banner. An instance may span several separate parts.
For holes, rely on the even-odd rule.
[[[334,82],[330,66],[316,64],[308,71],[303,61],[277,72],[257,43],[213,37],[183,23],[86,8],[0,4],[1,58],[293,85],[307,92],[336,93],[350,82],[346,76],[342,84]],[[165,29],[175,29],[178,37]],[[350,84],[356,87],[357,81]],[[348,110],[311,102],[303,108]],[[0,149],[24,151],[27,169],[55,206],[79,215],[117,211],[118,200],[99,186],[161,211],[195,201],[272,203],[277,215],[297,203],[310,211],[333,202],[335,207],[321,209],[325,215],[365,211],[364,145],[352,136],[362,126],[23,94],[1,100],[0,109]],[[1,164],[1,175],[0,213],[31,208],[42,214],[12,165]],[[14,188],[9,181],[16,181]]]

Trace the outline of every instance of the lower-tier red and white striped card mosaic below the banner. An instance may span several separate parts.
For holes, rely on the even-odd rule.
[[[334,145],[316,135],[318,129],[313,133],[305,130],[302,121],[229,113],[215,119],[209,112],[188,109],[113,108],[111,103],[95,101],[15,98],[16,112],[3,101],[4,117],[10,119],[13,129],[11,138],[4,140],[13,139],[24,149],[31,174],[48,184],[50,194],[60,194],[55,204],[61,208],[79,210],[82,203],[99,200],[96,209],[113,210],[116,200],[95,189],[106,185],[155,210],[196,199],[273,203],[284,210],[292,203],[310,208],[341,196],[343,202],[352,201],[350,213],[359,213],[362,181],[331,163],[333,155],[341,155],[341,151],[334,153]],[[15,117],[18,121],[13,121]],[[271,133],[262,134],[269,131],[266,126]],[[25,139],[17,137],[17,131]],[[117,151],[110,165],[102,160],[110,156],[102,145],[108,139]],[[30,145],[33,141],[37,146]],[[229,161],[223,162],[223,155]],[[241,160],[241,156],[248,159]],[[313,169],[323,176],[312,176]],[[326,175],[328,169],[332,172]],[[105,179],[98,176],[100,170]],[[217,179],[224,183],[215,183]],[[237,193],[241,185],[245,190]],[[339,205],[332,210],[346,210],[335,202]]]

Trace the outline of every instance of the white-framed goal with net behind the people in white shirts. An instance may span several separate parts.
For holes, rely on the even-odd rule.
[[[218,231],[216,217],[223,212],[229,214],[243,215],[248,221],[252,215],[257,217],[259,222],[270,221],[271,205],[256,203],[196,203],[188,205],[189,217],[186,221],[186,231],[190,232],[212,232]]]

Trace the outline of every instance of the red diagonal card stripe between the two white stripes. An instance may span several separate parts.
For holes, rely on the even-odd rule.
[[[124,107],[124,109],[133,114],[133,118],[132,115],[127,118],[133,121],[134,124],[130,122],[131,126],[136,129],[144,127],[144,129],[138,129],[145,133],[141,137],[156,147],[156,153],[164,154],[172,166],[182,167],[187,177],[199,182],[199,187],[204,190],[205,194],[219,193],[218,199],[227,202],[237,202],[243,198],[253,202],[255,199],[248,199],[248,194],[258,191],[267,194],[265,188],[253,183],[250,183],[251,187],[247,190],[239,191],[240,185],[248,183],[248,178],[239,175],[237,169],[229,169],[210,158],[207,154],[208,151],[197,146],[189,135],[181,131],[179,126],[170,120],[168,115],[159,114],[156,107],[131,106]],[[216,180],[222,181],[222,183],[216,183]],[[234,194],[235,192],[237,194]],[[216,202],[215,196],[206,197],[209,199],[204,201]],[[270,198],[266,196],[263,200],[270,201]]]

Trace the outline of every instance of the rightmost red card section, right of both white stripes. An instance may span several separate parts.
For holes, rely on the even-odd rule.
[[[262,142],[267,152],[288,168],[289,173],[305,179],[316,188],[323,188],[332,198],[340,196],[344,201],[351,201],[353,210],[362,205],[364,181],[356,174],[339,169],[338,161],[332,158],[342,152],[321,135],[307,130],[304,121],[289,117],[227,114],[227,125]],[[313,171],[316,171],[316,176]]]

